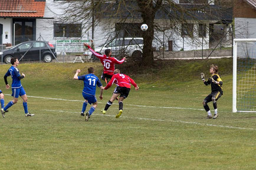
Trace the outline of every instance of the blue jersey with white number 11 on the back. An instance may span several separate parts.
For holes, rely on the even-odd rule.
[[[94,74],[87,74],[87,75],[78,76],[78,80],[83,80],[84,81],[83,92],[85,94],[95,95],[96,85],[97,86],[102,86],[102,84],[100,82],[100,79]]]

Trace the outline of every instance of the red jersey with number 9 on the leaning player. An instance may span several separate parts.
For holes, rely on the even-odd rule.
[[[111,85],[116,84],[117,86],[122,86],[126,88],[131,88],[131,84],[136,87],[137,84],[134,82],[132,78],[125,74],[114,74],[110,80],[110,82],[106,85],[105,89],[111,87]]]

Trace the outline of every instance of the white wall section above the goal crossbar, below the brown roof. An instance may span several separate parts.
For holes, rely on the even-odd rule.
[[[256,38],[256,18],[235,18],[235,38]]]

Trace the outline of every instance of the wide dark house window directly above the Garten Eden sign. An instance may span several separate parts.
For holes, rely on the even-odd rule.
[[[81,37],[81,24],[54,24],[54,37]]]

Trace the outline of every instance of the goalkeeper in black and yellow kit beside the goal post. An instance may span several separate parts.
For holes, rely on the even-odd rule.
[[[207,112],[208,119],[212,118],[212,114],[210,111],[209,106],[207,105],[208,102],[213,102],[214,104],[214,117],[213,119],[218,118],[218,108],[217,108],[217,100],[223,95],[222,91],[222,80],[221,77],[218,75],[218,66],[216,65],[211,65],[210,66],[210,74],[211,77],[208,79],[208,81],[205,81],[205,74],[202,72],[201,73],[201,79],[204,82],[205,85],[211,85],[212,92],[203,101],[203,105],[205,108],[205,111]]]

